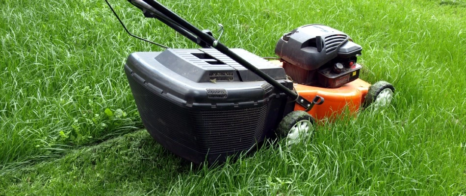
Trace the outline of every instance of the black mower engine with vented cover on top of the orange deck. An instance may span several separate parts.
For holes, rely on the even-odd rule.
[[[358,79],[362,47],[345,33],[324,25],[304,25],[283,35],[275,53],[295,83],[338,88]]]

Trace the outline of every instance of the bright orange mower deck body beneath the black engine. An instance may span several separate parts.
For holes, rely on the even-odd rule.
[[[280,61],[271,62],[282,66],[282,62]],[[348,108],[351,113],[356,113],[364,102],[369,86],[369,83],[359,78],[334,89],[294,84],[296,92],[309,101],[312,101],[316,95],[324,98],[324,103],[321,105],[314,105],[314,107],[308,111],[316,120],[323,120],[326,118],[333,119],[344,112],[346,108]],[[304,111],[306,109],[296,103],[294,110]]]

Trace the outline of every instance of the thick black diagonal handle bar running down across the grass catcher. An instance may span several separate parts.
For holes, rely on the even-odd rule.
[[[260,71],[254,65],[243,59],[241,56],[237,55],[233,51],[231,51],[227,46],[220,43],[216,40],[212,35],[209,35],[207,32],[200,30],[199,28],[191,25],[189,22],[178,16],[176,13],[172,12],[170,9],[162,5],[156,0],[128,0],[131,4],[138,7],[144,12],[144,16],[150,18],[156,18],[165,25],[173,28],[174,30],[181,33],[181,35],[185,36],[189,40],[193,41],[194,43],[198,44],[203,48],[214,48],[218,51],[222,52],[223,54],[227,55],[246,69],[250,70],[253,73],[256,73],[264,79],[266,82],[270,83],[275,88],[278,88],[280,91],[285,93],[287,96],[296,100],[298,104],[303,106],[306,110],[310,110],[312,106],[315,104],[316,101],[309,101],[306,98],[299,96],[297,93],[289,90],[285,85],[280,84],[278,81],[267,75],[266,73]],[[151,14],[146,13],[146,11],[151,12]],[[316,98],[321,98],[320,96],[316,96]],[[321,102],[323,102],[323,98],[321,98]],[[322,104],[322,103],[320,103]]]

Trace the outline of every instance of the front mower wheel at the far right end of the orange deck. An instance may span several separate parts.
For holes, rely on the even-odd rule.
[[[364,100],[364,106],[374,105],[376,108],[390,104],[393,99],[395,88],[386,81],[378,81],[369,87],[369,91]]]

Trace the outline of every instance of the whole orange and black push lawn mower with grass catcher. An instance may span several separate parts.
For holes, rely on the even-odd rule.
[[[224,162],[267,138],[297,141],[312,132],[314,120],[391,101],[391,84],[359,79],[362,47],[331,27],[304,25],[285,33],[275,48],[279,60],[269,61],[222,44],[220,24],[215,39],[155,0],[129,2],[201,47],[134,52],[125,64],[147,131],[195,164]]]

